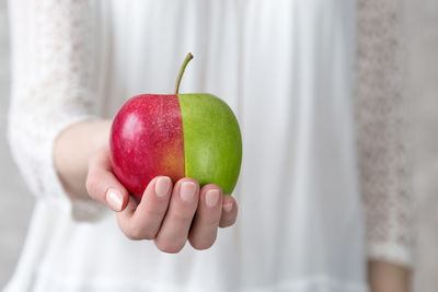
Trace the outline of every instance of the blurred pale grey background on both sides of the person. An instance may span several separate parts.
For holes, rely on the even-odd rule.
[[[407,8],[410,94],[414,121],[417,205],[415,292],[438,291],[438,1]],[[0,0],[0,288],[11,277],[25,238],[33,198],[13,164],[5,138],[9,103],[7,1]]]

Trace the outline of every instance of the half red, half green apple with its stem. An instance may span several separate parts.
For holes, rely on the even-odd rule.
[[[242,162],[242,138],[231,108],[209,93],[178,94],[188,54],[176,80],[175,94],[140,94],[116,114],[110,137],[113,172],[141,199],[160,175],[175,183],[192,177],[200,186],[216,184],[231,195]]]

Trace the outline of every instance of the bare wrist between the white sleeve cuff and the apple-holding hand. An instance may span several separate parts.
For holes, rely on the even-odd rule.
[[[57,138],[54,148],[55,167],[71,198],[90,198],[87,173],[90,156],[108,143],[111,120],[82,121],[68,127]]]

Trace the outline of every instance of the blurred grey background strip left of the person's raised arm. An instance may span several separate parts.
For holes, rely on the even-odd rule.
[[[7,1],[0,0],[0,288],[13,272],[33,206],[5,137],[10,85],[8,33]]]

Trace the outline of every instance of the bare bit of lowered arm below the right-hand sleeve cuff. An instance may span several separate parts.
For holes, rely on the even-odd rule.
[[[371,292],[408,292],[411,291],[411,271],[394,264],[370,260],[368,282]]]

